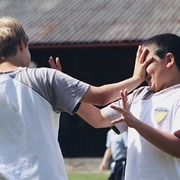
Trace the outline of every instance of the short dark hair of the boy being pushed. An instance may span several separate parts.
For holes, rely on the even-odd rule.
[[[143,42],[143,46],[156,45],[155,54],[161,59],[167,53],[172,53],[180,69],[180,37],[175,34],[165,33],[153,36]]]

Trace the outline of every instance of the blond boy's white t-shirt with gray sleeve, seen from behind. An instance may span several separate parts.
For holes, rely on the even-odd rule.
[[[0,179],[66,180],[61,111],[75,113],[89,85],[49,68],[0,73]]]

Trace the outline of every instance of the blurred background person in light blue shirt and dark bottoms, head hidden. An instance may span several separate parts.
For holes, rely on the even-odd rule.
[[[110,157],[110,176],[108,180],[124,180],[127,155],[127,132],[120,135],[112,129],[107,132],[106,150],[99,166],[99,170],[106,169]]]

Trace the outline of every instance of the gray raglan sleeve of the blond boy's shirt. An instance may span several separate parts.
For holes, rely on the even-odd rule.
[[[74,114],[90,87],[89,84],[55,69],[27,68],[27,71],[21,73],[22,76],[26,76],[23,78],[24,83],[43,96],[57,113],[65,111]]]

